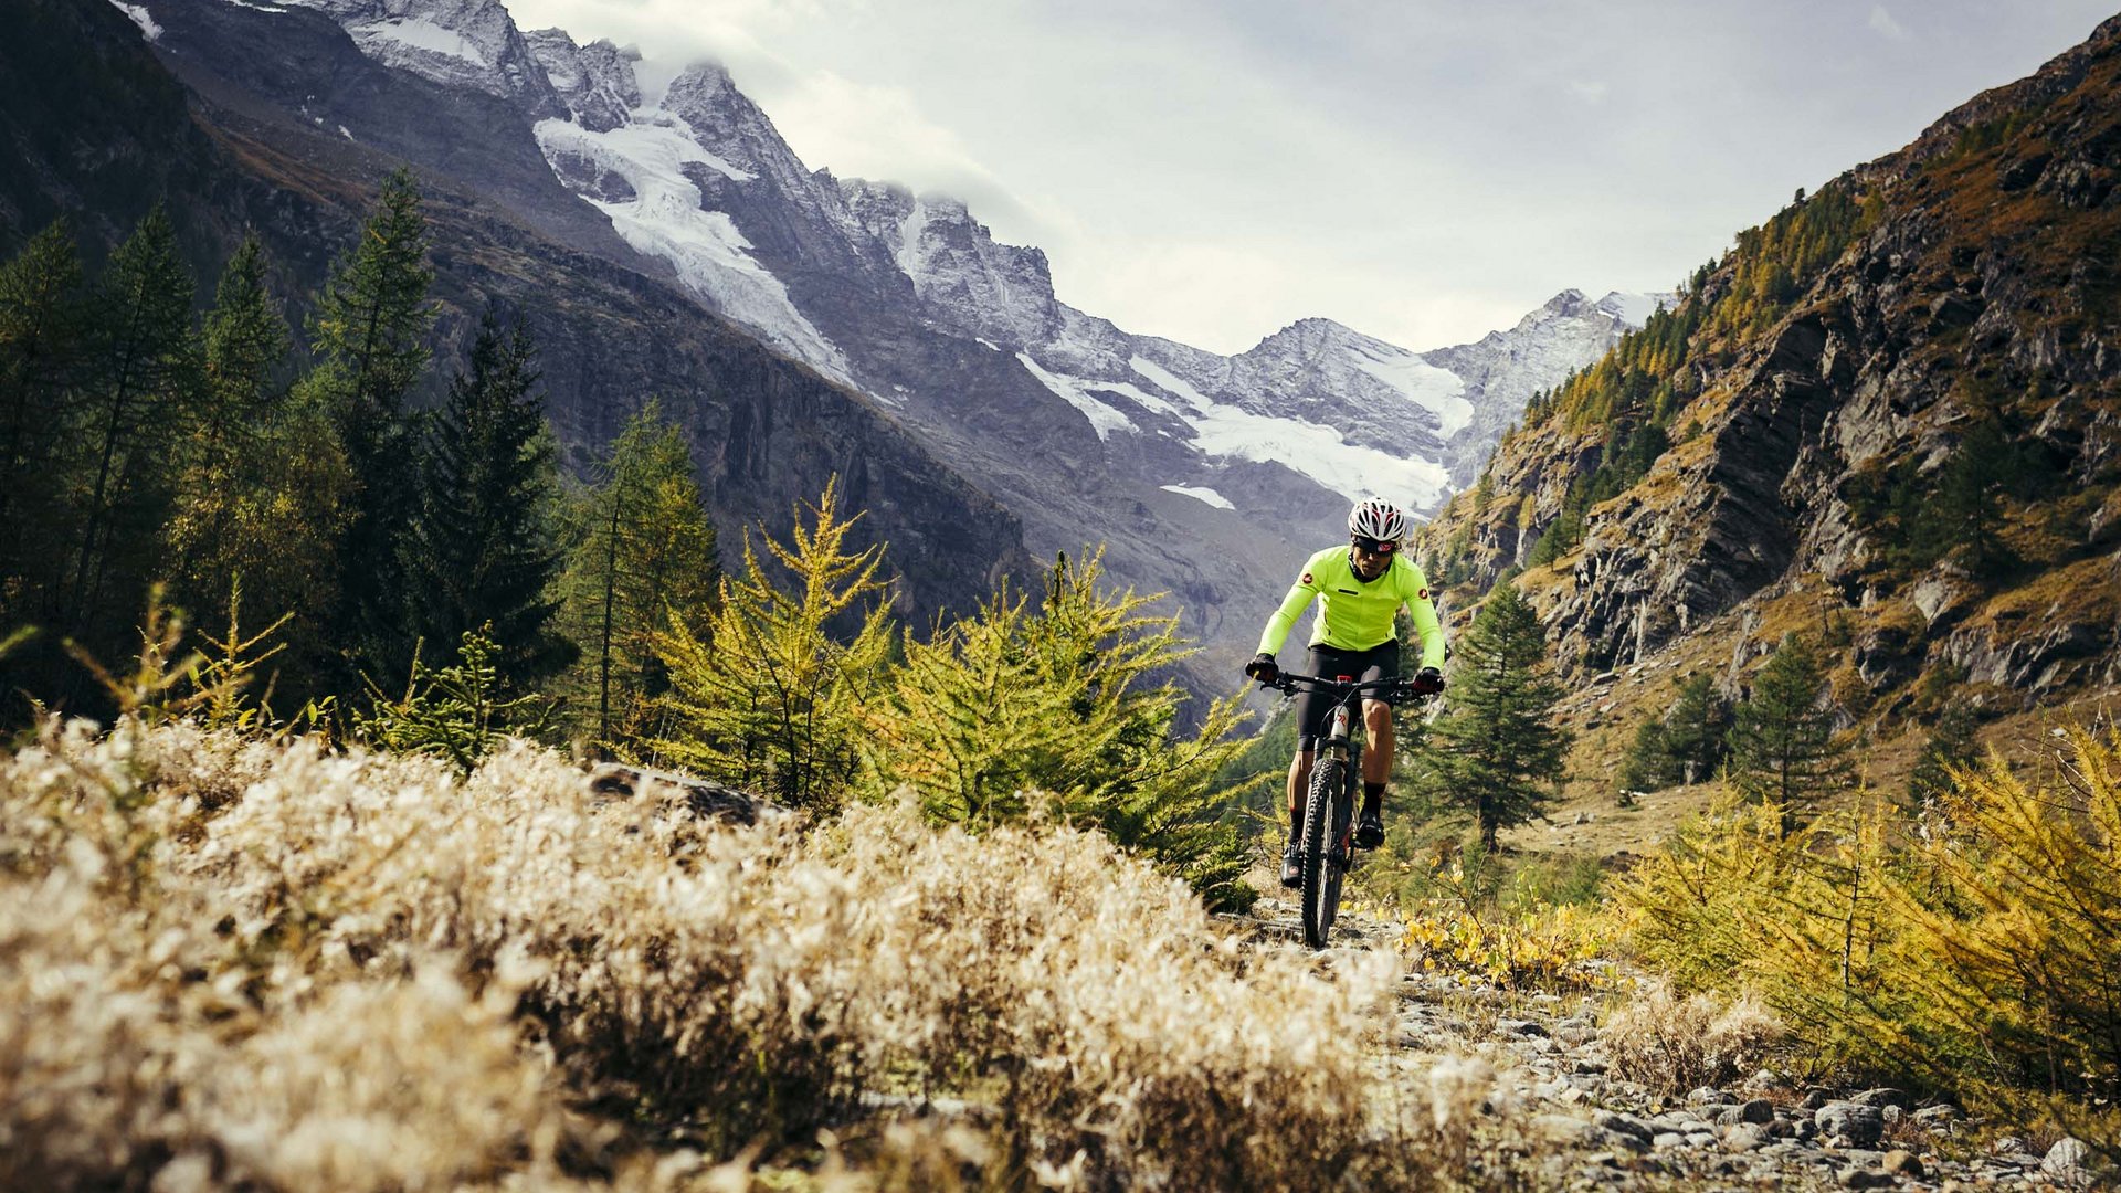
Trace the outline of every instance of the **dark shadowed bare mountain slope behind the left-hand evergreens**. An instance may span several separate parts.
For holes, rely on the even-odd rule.
[[[367,89],[384,110],[409,117],[401,104],[411,96],[435,123],[492,115],[481,91],[407,91],[403,79],[378,87],[365,74],[369,59],[314,13],[187,6],[185,19],[155,17],[157,45],[182,47],[195,30],[212,28],[229,36],[221,47],[235,47],[238,57],[269,57],[242,40],[242,25],[197,23],[225,8],[248,13],[244,21],[271,21],[274,45],[316,47],[320,57],[303,59],[316,79],[352,81],[339,98]],[[223,106],[208,96],[248,91],[225,76],[208,79],[195,57],[165,51],[165,62],[187,68],[193,85],[187,106],[185,87],[148,53],[142,30],[110,4],[8,0],[8,28],[38,40],[11,38],[0,53],[19,51],[38,72],[0,76],[98,102],[11,102],[0,110],[0,142],[15,146],[0,170],[8,195],[0,208],[0,253],[13,253],[53,212],[70,210],[93,255],[161,202],[182,229],[201,291],[242,231],[255,227],[280,270],[276,289],[305,295],[356,234],[380,178],[399,163],[395,153],[329,127],[335,121],[320,125],[316,117],[257,102],[248,113]],[[416,134],[405,136],[418,144]],[[464,153],[505,149],[464,146]],[[144,170],[132,170],[132,159]],[[484,170],[486,161],[477,166]],[[537,338],[549,416],[577,467],[643,401],[660,395],[687,429],[711,514],[723,526],[755,520],[785,526],[795,501],[814,499],[829,476],[842,476],[848,499],[870,509],[865,541],[891,541],[901,611],[912,618],[967,609],[991,580],[1031,571],[1016,518],[859,395],[768,350],[668,282],[554,240],[549,229],[571,219],[562,204],[581,200],[549,174],[545,180],[543,191],[496,197],[448,174],[424,178],[435,297],[443,304],[428,371],[433,391],[460,363],[456,355],[477,312],[494,304]],[[579,225],[609,231],[585,206]],[[632,259],[615,236],[600,246]]]

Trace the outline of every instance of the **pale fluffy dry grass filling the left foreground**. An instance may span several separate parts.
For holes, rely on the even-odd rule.
[[[11,1189],[1432,1187],[1470,1138],[1379,1089],[1389,955],[1245,945],[1088,832],[736,830],[526,745],[47,724],[0,957]]]

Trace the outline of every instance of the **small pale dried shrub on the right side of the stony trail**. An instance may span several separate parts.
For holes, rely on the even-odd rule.
[[[1782,1038],[1754,998],[1678,996],[1665,983],[1610,1010],[1603,1032],[1614,1076],[1665,1095],[1756,1072]]]

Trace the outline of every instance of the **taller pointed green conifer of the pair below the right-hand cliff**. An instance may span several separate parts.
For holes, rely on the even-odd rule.
[[[1847,785],[1847,751],[1835,741],[1822,688],[1820,654],[1788,635],[1731,722],[1731,779],[1746,798],[1780,809],[1784,834],[1801,811]]]

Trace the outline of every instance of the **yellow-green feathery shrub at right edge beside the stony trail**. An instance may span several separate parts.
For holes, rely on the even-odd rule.
[[[1907,847],[1877,813],[1784,838],[1773,809],[1720,807],[1623,883],[1629,938],[1828,1064],[2121,1153],[2121,739],[2068,730],[2047,775],[1953,773]]]

